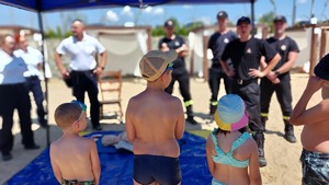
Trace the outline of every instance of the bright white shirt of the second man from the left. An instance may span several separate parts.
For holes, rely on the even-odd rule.
[[[38,63],[43,62],[43,55],[39,50],[34,49],[31,46],[27,46],[27,51],[25,53],[22,49],[14,51],[16,57],[22,57],[25,63],[27,65],[29,71],[24,72],[24,77],[39,76]]]

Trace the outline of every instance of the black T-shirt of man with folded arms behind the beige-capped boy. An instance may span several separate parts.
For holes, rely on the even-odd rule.
[[[166,43],[167,46],[169,47],[169,49],[178,49],[179,47],[182,47],[182,45],[185,44],[185,41],[183,37],[181,36],[174,36],[173,39],[168,38],[168,37],[163,37],[159,41],[159,45],[158,48],[161,49],[162,44]],[[184,72],[186,70],[185,68],[185,59],[184,57],[178,57],[174,61],[173,61],[173,73],[180,73],[180,72]]]

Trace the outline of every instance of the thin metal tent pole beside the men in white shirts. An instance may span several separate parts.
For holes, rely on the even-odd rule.
[[[50,132],[49,132],[49,125],[48,125],[48,114],[49,114],[49,111],[48,111],[48,79],[46,78],[46,60],[45,60],[45,50],[44,50],[44,39],[45,39],[45,34],[44,34],[44,24],[43,24],[43,16],[42,16],[42,12],[38,11],[37,12],[37,20],[38,20],[38,26],[39,26],[39,32],[42,34],[42,44],[41,44],[41,53],[43,54],[43,71],[44,71],[44,80],[45,80],[45,101],[46,101],[46,106],[45,106],[45,112],[46,112],[46,115],[45,115],[45,119],[46,119],[46,123],[47,123],[47,127],[46,127],[46,141],[47,141],[47,146],[50,144]]]

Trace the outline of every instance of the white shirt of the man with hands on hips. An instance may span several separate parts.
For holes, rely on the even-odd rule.
[[[104,46],[94,37],[83,33],[82,41],[70,36],[65,38],[56,48],[58,54],[70,54],[70,68],[77,71],[92,70],[97,67],[95,54],[105,51]]]

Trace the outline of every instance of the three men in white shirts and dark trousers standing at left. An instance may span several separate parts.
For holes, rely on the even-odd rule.
[[[90,115],[93,129],[102,130],[100,126],[100,108],[98,100],[97,77],[104,70],[106,62],[105,48],[93,37],[84,32],[81,20],[72,21],[72,36],[64,39],[56,49],[56,63],[65,79],[72,81],[72,94],[80,102],[84,102],[84,93],[90,99]],[[70,54],[69,68],[64,67],[61,56]],[[99,65],[94,55],[100,54]],[[25,149],[38,149],[34,142],[31,128],[31,91],[36,103],[38,123],[46,128],[46,112],[44,108],[44,95],[39,80],[39,69],[43,63],[43,55],[39,50],[29,46],[26,37],[18,35],[5,35],[1,37],[0,55],[3,62],[0,63],[0,116],[2,117],[2,129],[0,132],[0,150],[2,160],[12,159],[13,148],[13,113],[19,112],[22,132],[22,143]]]

